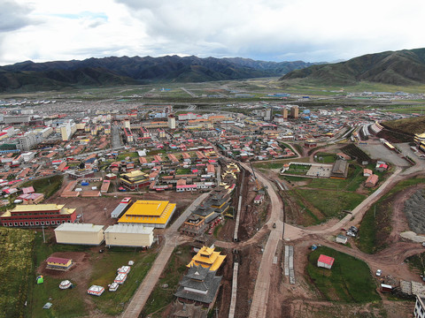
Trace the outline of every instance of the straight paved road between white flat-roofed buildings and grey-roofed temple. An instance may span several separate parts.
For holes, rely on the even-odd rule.
[[[197,200],[193,201],[192,204],[182,213],[181,216],[168,228],[166,229],[164,238],[165,244],[161,249],[161,252],[158,254],[156,260],[151,266],[148,274],[144,277],[142,284],[139,285],[139,288],[135,292],[135,295],[130,300],[127,309],[122,314],[123,318],[137,318],[142,312],[146,301],[149,299],[153,288],[158,282],[159,276],[162,271],[166,268],[166,263],[168,262],[171,254],[173,254],[174,247],[180,245],[184,242],[184,239],[180,239],[178,230],[182,223],[188,218],[190,213],[197,205],[205,199],[208,193],[200,195]]]

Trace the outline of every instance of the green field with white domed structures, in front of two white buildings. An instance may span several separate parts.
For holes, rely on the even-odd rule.
[[[44,284],[35,284],[35,274],[31,277],[30,293],[28,296],[28,313],[32,317],[81,317],[89,314],[89,302],[92,301],[99,313],[117,316],[122,312],[123,307],[133,296],[136,288],[142,283],[144,276],[151,268],[155,260],[157,250],[152,248],[148,251],[129,247],[106,248],[103,254],[98,253],[97,248],[90,246],[59,245],[54,242],[51,232],[46,232],[46,243],[42,241],[42,232],[35,234],[34,266],[38,268],[40,263],[46,260],[50,254],[55,252],[81,252],[85,253],[85,258],[91,264],[89,270],[89,283],[81,285],[78,278],[70,280],[75,287],[66,291],[58,288],[62,279],[53,276],[44,276]],[[128,264],[128,261],[135,261],[125,284],[120,285],[117,292],[107,291],[108,284],[113,282],[116,270]],[[70,275],[75,275],[78,268],[72,269]],[[84,276],[84,275],[83,275]],[[90,296],[85,293],[89,285],[99,284],[105,287],[102,296]],[[83,291],[81,293],[81,290]],[[87,298],[87,299],[86,299]],[[42,309],[42,306],[50,301],[53,306],[49,309]]]

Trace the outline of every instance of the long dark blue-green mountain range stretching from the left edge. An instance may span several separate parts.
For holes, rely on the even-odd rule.
[[[203,82],[282,76],[312,65],[248,58],[104,57],[82,61],[32,61],[0,67],[0,91],[104,87],[151,82]]]

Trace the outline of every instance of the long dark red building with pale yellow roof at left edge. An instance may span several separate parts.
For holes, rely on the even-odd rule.
[[[12,227],[56,226],[72,223],[76,217],[76,208],[65,208],[63,204],[28,204],[4,212],[0,223]]]

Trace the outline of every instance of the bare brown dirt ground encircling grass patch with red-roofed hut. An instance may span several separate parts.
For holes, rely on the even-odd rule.
[[[304,239],[290,242],[294,245],[294,265],[296,284],[290,284],[288,277],[283,275],[283,244],[279,246],[279,266],[274,266],[272,283],[267,304],[267,317],[407,317],[413,312],[413,301],[390,301],[383,296],[383,302],[377,304],[342,304],[322,299],[321,293],[306,279],[305,267],[307,264],[308,249],[313,243],[332,247],[346,254],[351,254],[371,266],[371,275],[375,269],[383,269],[384,275],[403,277],[420,281],[420,277],[413,274],[406,263],[403,263],[407,255],[422,251],[417,244],[398,243],[396,246],[383,251],[380,254],[363,254],[356,249],[347,248],[325,239],[310,235]],[[397,255],[396,257],[394,257]],[[419,279],[418,279],[419,278]],[[377,283],[379,281],[377,280]]]

